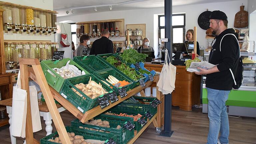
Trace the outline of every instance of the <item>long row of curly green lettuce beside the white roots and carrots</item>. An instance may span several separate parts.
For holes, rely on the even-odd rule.
[[[139,80],[140,78],[143,78],[142,75],[138,75],[135,71],[135,69],[130,68],[125,63],[122,63],[120,60],[115,58],[114,56],[110,56],[106,59],[108,63],[116,67],[118,70],[120,70],[122,73],[127,75],[129,78],[131,78],[134,81]]]

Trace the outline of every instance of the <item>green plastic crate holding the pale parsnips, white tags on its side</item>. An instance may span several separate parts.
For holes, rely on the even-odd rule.
[[[96,76],[93,74],[87,74],[87,75],[82,75],[79,77],[73,77],[65,80],[60,94],[66,98],[68,101],[70,101],[74,106],[76,106],[82,113],[85,113],[87,110],[96,107],[99,105],[98,103],[98,98],[91,99],[87,95],[85,95],[82,91],[80,91],[77,87],[75,87],[76,84],[83,83],[83,84],[88,84],[89,80],[95,81],[96,83],[101,83],[102,87],[110,92],[113,91],[109,86],[104,84],[100,79],[98,79]],[[72,88],[74,88],[76,91],[80,92],[83,97],[80,97],[77,93],[75,93]]]

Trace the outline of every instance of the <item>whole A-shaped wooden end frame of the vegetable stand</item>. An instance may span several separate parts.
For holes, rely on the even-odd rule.
[[[44,76],[39,60],[38,59],[20,59],[19,62],[20,62],[21,88],[28,92],[27,93],[27,115],[26,115],[26,143],[40,144],[40,142],[34,139],[34,136],[33,136],[29,83],[28,83],[29,82],[28,78],[30,77],[40,86],[40,89],[44,95],[46,105],[50,111],[54,125],[58,131],[61,141],[65,144],[71,144],[66,128],[63,124],[63,121],[60,117],[57,106],[54,102],[53,95],[48,86],[48,83]],[[34,75],[33,73],[31,73],[31,69],[29,72],[28,65],[32,65]]]

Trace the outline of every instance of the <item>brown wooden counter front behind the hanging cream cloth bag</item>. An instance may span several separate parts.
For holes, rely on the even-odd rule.
[[[145,62],[144,67],[149,71],[161,72],[162,64]],[[200,104],[201,75],[188,72],[186,66],[176,66],[175,90],[172,92],[172,105],[180,109],[191,111],[192,106]]]

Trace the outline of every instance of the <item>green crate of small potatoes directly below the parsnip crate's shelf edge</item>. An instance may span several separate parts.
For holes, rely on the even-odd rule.
[[[89,125],[89,124],[83,124],[78,119],[75,119],[71,121],[71,126],[73,127],[87,127],[87,128],[93,128],[98,130],[103,130],[110,132],[110,134],[116,135],[116,143],[117,144],[126,144],[130,139],[134,137],[134,130],[129,131],[128,129],[123,128],[124,123],[127,121],[133,123],[133,118],[130,117],[121,117],[121,116],[114,116],[114,115],[105,115],[100,114],[96,116],[94,119],[101,119],[102,121],[107,120],[109,121],[110,128],[101,127],[101,126],[95,126],[95,125]],[[116,127],[120,125],[120,129],[116,129]],[[102,132],[103,133],[103,132]]]

